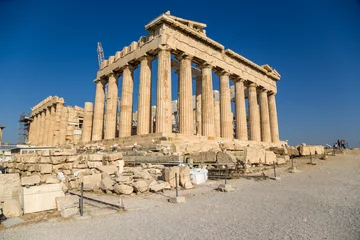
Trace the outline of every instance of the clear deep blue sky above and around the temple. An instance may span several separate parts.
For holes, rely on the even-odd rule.
[[[360,146],[359,0],[0,0],[3,140],[16,142],[19,115],[49,95],[71,106],[94,101],[97,42],[114,55],[167,10],[277,69],[281,139]]]

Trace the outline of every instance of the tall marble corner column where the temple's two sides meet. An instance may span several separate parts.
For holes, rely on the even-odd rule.
[[[158,53],[158,79],[156,87],[156,132],[172,132],[171,105],[171,53],[162,48]]]

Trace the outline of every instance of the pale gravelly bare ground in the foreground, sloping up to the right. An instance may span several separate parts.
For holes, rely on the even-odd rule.
[[[181,191],[187,202],[179,205],[133,197],[125,213],[27,224],[0,231],[0,239],[360,239],[360,154],[316,166],[297,161],[302,172],[283,168],[280,181],[231,180],[231,193],[207,184]]]

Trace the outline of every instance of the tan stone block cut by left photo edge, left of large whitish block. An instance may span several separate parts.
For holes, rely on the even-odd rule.
[[[0,202],[11,199],[21,202],[21,183],[18,173],[0,175]]]

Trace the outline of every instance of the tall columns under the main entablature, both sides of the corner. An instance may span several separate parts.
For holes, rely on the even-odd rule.
[[[192,57],[178,55],[179,69],[179,133],[194,134],[194,112],[192,103]],[[138,96],[137,135],[151,132],[151,62],[153,57],[140,58],[140,84]],[[196,81],[196,127],[203,136],[216,137],[215,108],[213,96],[213,67],[204,63],[201,78]],[[118,99],[118,78],[122,74],[122,93],[120,104],[119,137],[131,136],[132,108],[135,67],[127,65],[121,73],[113,72],[107,79],[96,81],[95,106],[93,116],[92,141],[116,136],[116,109]],[[156,88],[156,127],[155,132],[172,132],[171,98],[171,53],[166,47],[158,52],[158,75]],[[231,113],[230,74],[217,72],[220,78],[220,136],[233,138],[233,115]],[[258,89],[255,83],[235,79],[235,137],[240,140],[278,142],[278,120],[275,95],[265,89]],[[106,113],[104,123],[105,84],[108,84]],[[250,139],[248,139],[245,87],[248,88],[248,109]],[[260,102],[260,103],[259,103]],[[259,105],[260,104],[260,105]],[[103,136],[105,124],[105,132]],[[89,137],[87,136],[87,139]]]

